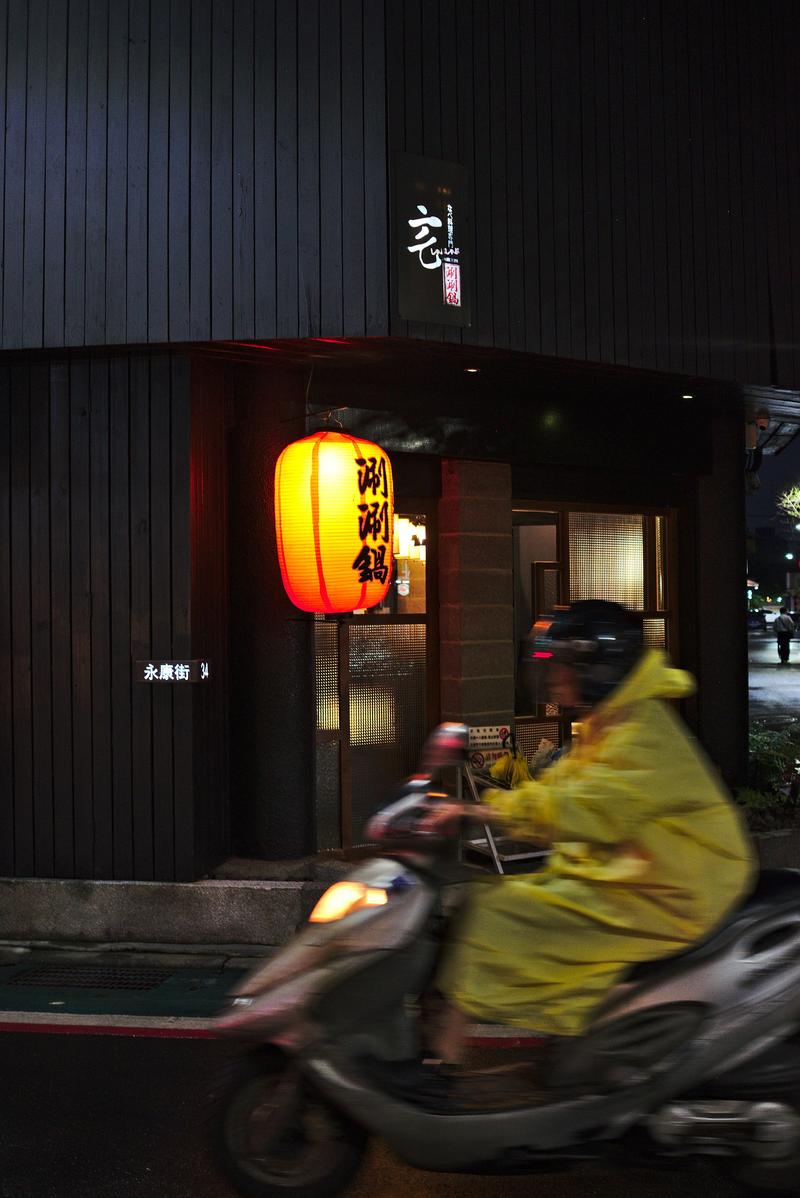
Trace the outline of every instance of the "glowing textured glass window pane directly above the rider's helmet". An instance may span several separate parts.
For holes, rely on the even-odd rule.
[[[569,513],[570,600],[607,599],[644,606],[644,518]]]

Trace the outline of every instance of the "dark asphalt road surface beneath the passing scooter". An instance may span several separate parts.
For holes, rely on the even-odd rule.
[[[211,1150],[223,1043],[0,1036],[0,1198],[232,1198]],[[538,1178],[423,1174],[370,1149],[347,1198],[731,1198],[710,1169],[582,1168]]]

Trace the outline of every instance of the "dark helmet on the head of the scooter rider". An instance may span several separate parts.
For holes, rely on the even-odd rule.
[[[587,599],[557,612],[538,629],[537,655],[575,668],[581,702],[600,703],[630,673],[642,653],[642,618],[617,603]]]

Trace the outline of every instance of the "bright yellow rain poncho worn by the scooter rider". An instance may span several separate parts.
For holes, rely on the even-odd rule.
[[[747,893],[740,816],[661,702],[692,689],[648,651],[540,781],[485,795],[552,853],[540,873],[475,884],[438,981],[456,1006],[577,1035],[630,964],[686,949]]]

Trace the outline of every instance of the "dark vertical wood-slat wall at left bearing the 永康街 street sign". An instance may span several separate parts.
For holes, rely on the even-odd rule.
[[[208,441],[224,467],[219,419]],[[186,359],[0,368],[4,875],[170,879],[208,865],[190,818],[202,688],[132,676],[133,660],[194,648],[189,448]],[[213,500],[224,522],[219,489]],[[206,700],[219,737],[222,691]],[[224,795],[218,775],[211,786]]]

